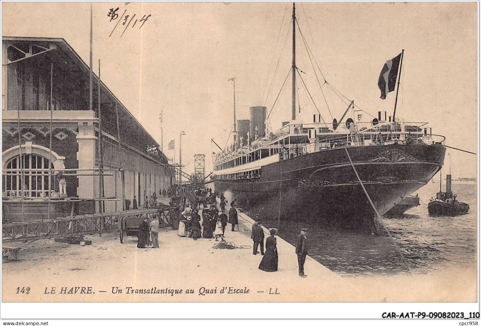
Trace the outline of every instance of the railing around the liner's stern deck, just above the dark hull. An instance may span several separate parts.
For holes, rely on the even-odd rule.
[[[306,154],[329,150],[337,147],[359,147],[375,145],[409,144],[409,145],[444,145],[445,137],[423,133],[353,133],[342,137],[333,137],[306,144],[292,144],[279,153],[279,160],[299,157]]]

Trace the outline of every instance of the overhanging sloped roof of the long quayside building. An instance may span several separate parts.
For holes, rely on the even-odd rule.
[[[62,69],[62,64],[59,64],[60,61],[61,63],[64,63],[66,67],[64,70],[68,71],[70,73],[79,73],[79,78],[82,77],[87,77],[89,78],[89,73],[90,73],[90,68],[87,63],[85,63],[82,58],[76,53],[76,51],[65,41],[63,38],[58,38],[58,37],[22,37],[22,36],[2,36],[2,41],[13,41],[13,42],[22,42],[22,41],[29,41],[29,42],[38,42],[39,44],[41,43],[49,43],[49,44],[55,44],[56,45],[56,52],[59,54],[58,58],[55,58],[54,56],[51,55],[50,51],[45,52],[45,53],[39,53],[40,55],[47,55],[50,57],[50,59],[55,61],[60,69]],[[77,68],[77,69],[75,69]],[[95,72],[92,72],[93,76],[93,93],[94,95],[97,94],[97,88],[98,88],[98,83],[99,83],[99,77],[95,74]],[[114,95],[114,93],[100,80],[100,88],[101,88],[101,95],[103,97],[108,97],[110,101],[113,103],[117,103],[117,108],[119,111],[119,120],[122,120],[126,124],[131,124],[133,122],[133,127],[135,129],[129,129],[129,133],[135,133],[136,137],[141,137],[144,139],[144,141],[149,144],[150,146],[153,147],[159,147],[159,144],[155,141],[155,139],[152,137],[152,135],[145,130],[145,128],[140,124],[140,122],[130,113],[130,111],[120,102],[120,100]],[[93,109],[96,110],[97,108],[97,103],[94,101],[93,104]],[[102,103],[102,125],[104,122],[105,118],[109,118],[109,113],[110,113],[110,121],[115,120],[115,111],[108,110],[108,107],[104,106],[104,103]],[[112,112],[113,111],[113,112]],[[132,122],[129,122],[132,121]],[[115,125],[116,129],[116,125]],[[102,128],[103,130],[103,128]],[[113,136],[117,136],[116,134],[113,134]],[[160,149],[159,149],[160,152]],[[164,153],[162,153],[163,159],[165,160],[165,163],[167,162],[167,158],[165,157]]]

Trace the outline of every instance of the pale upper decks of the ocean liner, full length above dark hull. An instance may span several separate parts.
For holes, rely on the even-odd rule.
[[[432,134],[426,122],[385,122],[375,125],[371,122],[353,122],[339,126],[326,123],[287,124],[266,138],[240,148],[231,146],[227,153],[218,154],[214,170],[220,172],[215,174],[232,173],[238,169],[272,163],[272,156],[276,156],[274,160],[278,161],[340,146],[442,145],[444,140],[443,136]],[[255,161],[259,162],[254,164]]]

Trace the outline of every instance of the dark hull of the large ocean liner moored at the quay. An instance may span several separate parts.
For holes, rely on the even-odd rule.
[[[268,217],[370,229],[375,213],[346,149],[380,215],[429,182],[445,154],[442,145],[333,148],[263,166],[257,180],[215,178],[215,192]]]

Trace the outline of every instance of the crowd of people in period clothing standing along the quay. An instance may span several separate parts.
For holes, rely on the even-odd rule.
[[[169,189],[170,190],[170,189]],[[154,196],[153,193],[152,196]],[[207,196],[213,198],[210,203],[203,204],[201,201],[195,202],[193,207],[190,204],[185,206],[180,206],[177,216],[176,214],[170,217],[170,224],[172,229],[177,230],[177,235],[181,237],[192,238],[197,240],[199,238],[213,239],[215,241],[224,241],[226,226],[228,223],[231,224],[231,231],[235,231],[235,226],[237,225],[237,230],[239,231],[239,219],[236,209],[236,200],[234,199],[230,203],[229,216],[226,212],[227,200],[224,194],[220,195],[220,214],[217,208],[216,195],[209,190],[201,190],[196,192],[196,195]],[[203,204],[202,218],[199,214],[200,205]],[[278,229],[270,228],[269,237],[265,240],[265,231],[262,227],[262,220],[260,215],[256,214],[256,222],[252,226],[251,239],[253,240],[253,255],[259,254],[257,251],[260,248],[260,254],[263,255],[261,263],[259,264],[259,269],[266,272],[275,272],[278,270],[278,251],[277,251],[277,239],[276,234]],[[201,224],[202,221],[202,224]],[[159,232],[159,219],[155,214],[150,220],[145,218],[139,227],[139,240],[137,247],[145,248],[152,244],[152,248],[159,248],[158,242],[158,232]],[[266,243],[266,251],[264,251],[264,242]],[[296,250],[297,261],[299,266],[299,276],[305,278],[304,274],[304,262],[306,255],[308,253],[308,241],[307,241],[307,229],[301,229],[301,233],[297,237]]]

